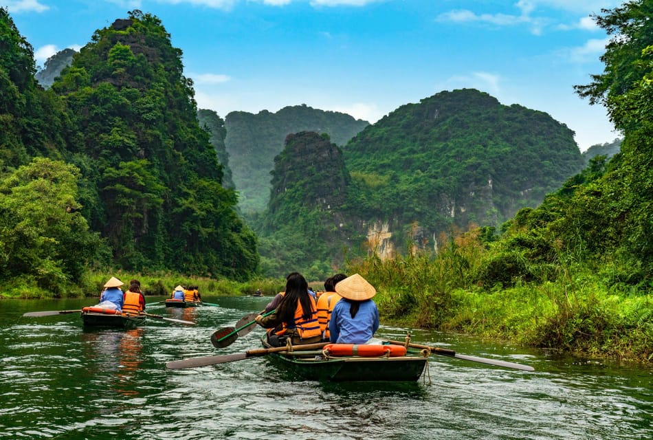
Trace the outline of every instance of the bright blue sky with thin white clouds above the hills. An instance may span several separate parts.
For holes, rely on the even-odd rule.
[[[370,122],[442,90],[474,87],[545,111],[581,150],[618,136],[573,85],[603,72],[589,18],[614,0],[0,0],[36,64],[127,11],[162,20],[198,107],[342,111]]]

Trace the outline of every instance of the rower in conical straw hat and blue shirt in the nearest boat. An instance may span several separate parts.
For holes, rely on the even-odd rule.
[[[359,274],[353,274],[335,285],[342,297],[331,313],[331,342],[365,344],[379,329],[379,309],[372,298],[377,289]]]

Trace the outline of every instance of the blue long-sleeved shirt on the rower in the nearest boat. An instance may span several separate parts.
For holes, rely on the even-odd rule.
[[[329,321],[331,342],[364,344],[379,329],[379,309],[377,309],[377,305],[373,300],[360,303],[355,318],[352,318],[351,313],[349,313],[350,306],[351,303],[345,298],[335,303]]]

